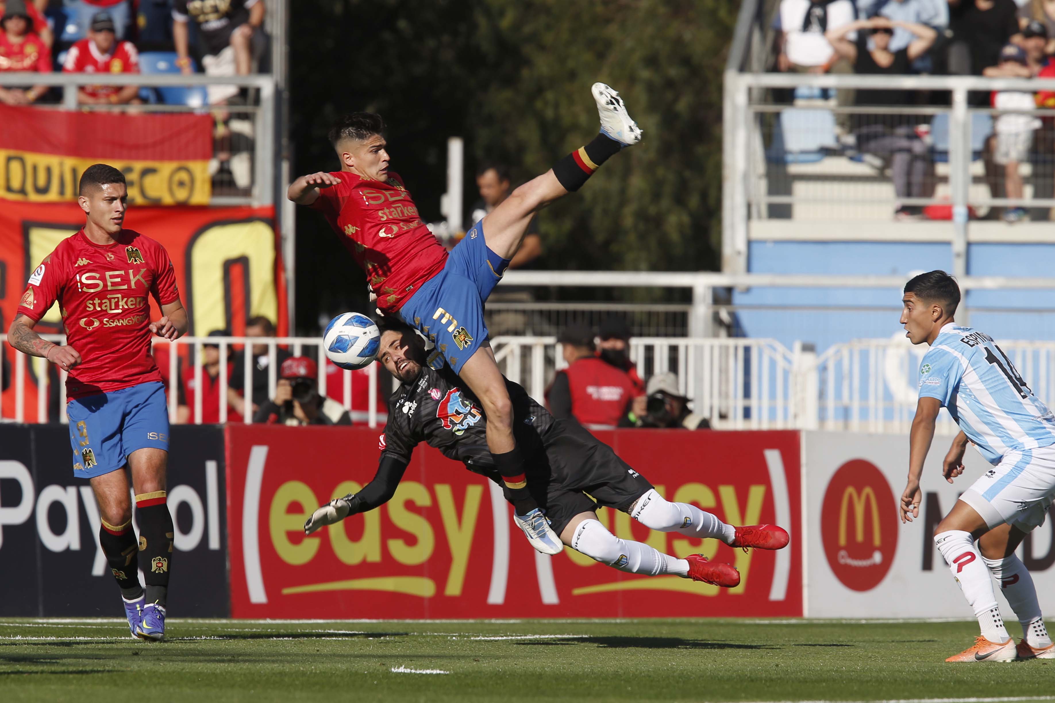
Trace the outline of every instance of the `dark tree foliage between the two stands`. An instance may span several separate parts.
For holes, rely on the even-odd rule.
[[[467,207],[477,162],[505,161],[523,180],[589,141],[589,89],[600,80],[626,98],[645,139],[541,214],[542,266],[713,268],[722,69],[735,11],[728,0],[298,0],[294,171],[335,169],[329,123],[379,112],[392,168],[426,219],[439,219],[448,136],[466,140]],[[343,269],[356,286],[362,276],[314,213],[300,213],[298,229],[307,312],[327,273]]]

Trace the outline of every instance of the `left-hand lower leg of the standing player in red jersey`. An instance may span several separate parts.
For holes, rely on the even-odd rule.
[[[99,506],[99,546],[110,565],[110,572],[121,589],[124,614],[129,630],[136,636],[136,628],[147,605],[142,586],[139,585],[139,547],[132,529],[132,501],[128,477],[123,469],[111,471],[91,480],[92,492]]]

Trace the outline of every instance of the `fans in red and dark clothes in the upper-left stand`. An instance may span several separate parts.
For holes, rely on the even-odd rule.
[[[248,75],[266,59],[265,12],[265,0],[0,0],[0,74],[139,73],[138,47],[170,53],[171,66],[184,74],[200,65],[211,76]],[[168,63],[155,67],[166,71]],[[209,103],[226,104],[238,93],[210,86]],[[42,85],[0,87],[0,101],[22,105],[49,94]],[[78,99],[128,104],[138,96],[131,87],[99,85]]]

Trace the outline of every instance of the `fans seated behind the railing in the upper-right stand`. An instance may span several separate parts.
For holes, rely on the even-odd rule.
[[[775,70],[860,75],[1055,76],[1055,0],[781,0],[774,20]],[[900,90],[840,90],[839,108],[909,106],[934,99]],[[947,95],[937,98],[947,100]],[[1031,154],[1055,155],[1055,120],[1029,113],[1055,106],[1055,93],[972,93],[974,106],[1000,111],[984,148],[993,197],[1021,199],[1019,167]],[[899,200],[933,196],[927,144],[931,118],[919,114],[841,112],[839,145],[889,168]],[[1044,137],[1038,131],[1051,132]],[[1039,142],[1043,139],[1043,145]],[[1053,152],[1053,154],[1048,154]],[[1035,160],[1035,157],[1034,157]],[[1048,195],[1048,197],[1051,197]],[[922,209],[900,206],[896,217]],[[1027,217],[1003,211],[1006,221]]]

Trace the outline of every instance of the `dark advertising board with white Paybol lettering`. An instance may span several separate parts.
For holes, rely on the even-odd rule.
[[[171,442],[169,612],[227,617],[224,431],[174,426]],[[99,548],[95,496],[74,477],[70,452],[65,426],[0,425],[0,617],[123,612]]]

